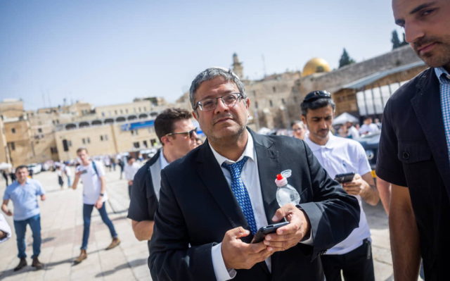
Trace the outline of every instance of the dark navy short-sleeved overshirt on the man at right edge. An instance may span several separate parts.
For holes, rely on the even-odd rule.
[[[444,132],[439,80],[429,68],[387,101],[377,163],[379,177],[409,187],[427,280],[448,279],[450,164]]]

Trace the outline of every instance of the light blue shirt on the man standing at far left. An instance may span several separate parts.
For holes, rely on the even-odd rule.
[[[3,199],[11,199],[13,201],[14,220],[26,220],[39,214],[37,196],[44,194],[44,189],[37,180],[27,179],[24,185],[20,185],[15,180],[11,185],[6,187]]]

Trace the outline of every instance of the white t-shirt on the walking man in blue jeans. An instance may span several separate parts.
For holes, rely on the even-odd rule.
[[[103,169],[103,165],[97,161],[96,168],[98,171],[98,175],[94,170],[94,166],[92,165],[93,161],[89,163],[88,166],[79,165],[77,166],[76,172],[86,170],[87,172],[82,173],[80,176],[83,182],[83,204],[94,205],[98,197],[100,196],[101,191],[101,181],[100,177],[105,176],[105,170]],[[108,194],[106,192],[103,195],[103,202],[108,199]]]

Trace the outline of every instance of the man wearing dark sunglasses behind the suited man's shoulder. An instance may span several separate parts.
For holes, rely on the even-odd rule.
[[[197,146],[196,128],[189,111],[167,108],[155,119],[155,132],[162,144],[158,151],[134,176],[128,216],[134,236],[139,241],[153,235],[153,216],[160,196],[160,171]]]

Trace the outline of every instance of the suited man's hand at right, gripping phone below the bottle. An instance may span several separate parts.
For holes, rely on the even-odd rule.
[[[276,233],[266,235],[264,239],[264,244],[274,251],[285,251],[297,245],[303,237],[309,235],[311,229],[306,213],[293,204],[285,204],[276,210],[272,220],[278,222],[283,218],[286,218],[289,224],[278,228]]]

